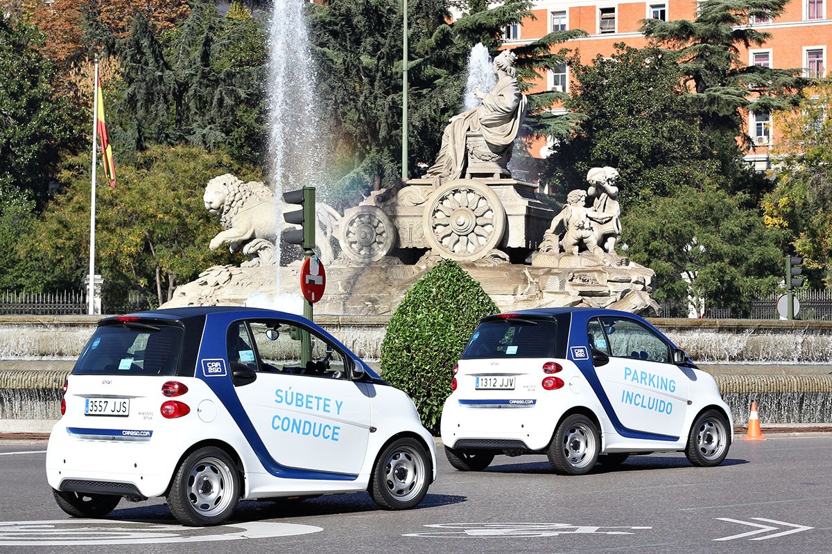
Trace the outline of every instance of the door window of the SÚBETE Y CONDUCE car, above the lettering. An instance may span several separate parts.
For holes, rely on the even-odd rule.
[[[342,352],[323,337],[291,321],[250,321],[262,371],[334,379],[347,376]],[[309,341],[310,354],[305,355]]]

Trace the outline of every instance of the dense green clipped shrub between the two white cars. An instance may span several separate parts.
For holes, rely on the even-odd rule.
[[[390,318],[381,345],[382,377],[410,395],[433,434],[451,394],[453,365],[480,317],[498,311],[457,262],[444,260],[410,288]]]

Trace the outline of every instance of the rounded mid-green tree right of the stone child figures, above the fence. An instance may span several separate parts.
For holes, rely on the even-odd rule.
[[[741,195],[686,188],[631,207],[622,218],[627,254],[656,272],[654,297],[686,316],[688,298],[748,314],[748,298],[781,281],[784,233],[742,208]]]

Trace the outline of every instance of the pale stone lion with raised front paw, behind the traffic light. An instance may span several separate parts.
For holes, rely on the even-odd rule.
[[[224,229],[211,239],[209,248],[216,250],[228,243],[231,252],[242,252],[250,257],[242,267],[279,265],[276,259],[275,238],[278,222],[277,199],[263,183],[243,183],[232,174],[210,179],[202,195],[209,213],[214,214]],[[295,209],[293,206],[284,208]],[[334,260],[332,239],[340,221],[338,212],[325,203],[315,203],[315,244],[320,260],[329,264]]]

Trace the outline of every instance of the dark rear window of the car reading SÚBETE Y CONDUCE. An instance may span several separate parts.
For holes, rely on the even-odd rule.
[[[184,330],[142,323],[98,327],[73,375],[176,375]]]

